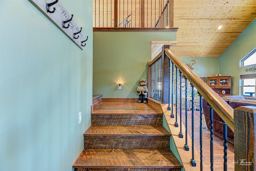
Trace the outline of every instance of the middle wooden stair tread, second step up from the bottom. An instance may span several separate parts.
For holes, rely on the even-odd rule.
[[[84,135],[154,135],[170,136],[163,126],[152,125],[91,125]]]

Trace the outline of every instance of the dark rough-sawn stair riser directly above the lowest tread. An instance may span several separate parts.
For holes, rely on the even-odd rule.
[[[93,149],[158,149],[170,147],[170,135],[129,136],[129,135],[86,135],[84,148]]]

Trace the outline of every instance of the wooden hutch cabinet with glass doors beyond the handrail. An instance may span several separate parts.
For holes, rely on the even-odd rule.
[[[207,77],[207,84],[221,97],[231,95],[231,76]]]

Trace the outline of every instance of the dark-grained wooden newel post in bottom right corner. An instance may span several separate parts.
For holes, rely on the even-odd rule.
[[[234,109],[235,171],[254,171],[256,168],[256,107]]]

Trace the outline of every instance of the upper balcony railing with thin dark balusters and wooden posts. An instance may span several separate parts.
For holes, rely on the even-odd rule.
[[[94,28],[172,28],[173,0],[94,0]]]

